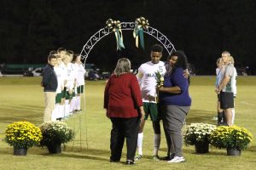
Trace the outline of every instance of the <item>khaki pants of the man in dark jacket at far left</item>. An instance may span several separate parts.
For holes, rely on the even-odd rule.
[[[55,109],[55,92],[44,92],[44,122],[51,120],[51,113]]]

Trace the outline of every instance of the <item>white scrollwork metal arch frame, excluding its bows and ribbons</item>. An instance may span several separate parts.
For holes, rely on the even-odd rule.
[[[135,26],[136,24],[134,22],[122,22],[121,30],[134,30]],[[84,59],[84,65],[88,55],[90,54],[90,50],[102,39],[102,37],[108,36],[108,34],[112,32],[112,30],[108,30],[106,27],[102,28],[100,31],[97,31],[92,37],[90,37],[90,39],[84,44],[84,47],[80,53],[81,59]],[[168,54],[171,54],[173,50],[176,50],[172,42],[170,42],[170,40],[168,40],[168,38],[157,29],[148,26],[148,29],[143,30],[143,32],[157,39],[164,46],[164,48],[166,48]]]

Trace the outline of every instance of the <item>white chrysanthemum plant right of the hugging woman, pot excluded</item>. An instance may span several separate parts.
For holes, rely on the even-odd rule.
[[[186,127],[184,134],[185,144],[210,143],[210,136],[216,129],[215,125],[208,123],[191,123]]]

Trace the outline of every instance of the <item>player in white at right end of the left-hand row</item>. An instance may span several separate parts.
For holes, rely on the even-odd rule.
[[[76,99],[74,109],[75,111],[81,111],[81,94],[84,93],[84,74],[86,71],[84,69],[84,65],[81,62],[81,56],[79,54],[74,55],[73,61],[77,70],[77,93],[76,97],[74,97],[74,99]]]

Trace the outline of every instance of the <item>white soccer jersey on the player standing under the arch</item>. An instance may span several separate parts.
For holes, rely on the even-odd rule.
[[[151,61],[144,63],[138,69],[137,79],[141,87],[143,102],[156,103],[155,98],[157,96],[155,86],[155,72],[160,71],[162,76],[166,73],[165,63],[160,61],[158,64],[154,64]]]

